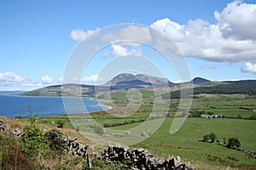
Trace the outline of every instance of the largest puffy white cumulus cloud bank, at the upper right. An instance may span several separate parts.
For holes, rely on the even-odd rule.
[[[214,16],[217,24],[198,19],[180,25],[166,18],[151,27],[171,37],[185,56],[256,62],[256,4],[235,1]]]

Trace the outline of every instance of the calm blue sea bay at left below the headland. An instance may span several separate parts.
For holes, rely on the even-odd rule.
[[[65,98],[65,100],[67,101],[66,107],[61,97],[0,95],[0,116],[28,116],[28,105],[32,106],[33,113],[38,116],[90,113],[108,109],[108,106],[100,105],[103,101],[90,98]]]

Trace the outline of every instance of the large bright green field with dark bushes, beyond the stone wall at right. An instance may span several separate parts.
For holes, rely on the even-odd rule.
[[[153,150],[156,155],[161,157],[172,154],[190,161],[202,161],[213,165],[239,167],[241,164],[247,164],[248,167],[255,166],[255,158],[244,153],[217,144],[198,142],[203,135],[213,132],[221,142],[223,138],[237,136],[241,140],[242,148],[255,151],[256,128],[254,121],[189,118],[174,135],[169,134],[171,124],[172,118],[166,118],[166,122],[156,133],[137,146]],[[229,156],[230,159],[227,158]]]

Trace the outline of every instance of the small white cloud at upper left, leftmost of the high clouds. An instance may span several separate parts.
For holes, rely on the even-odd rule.
[[[96,31],[98,31],[99,29],[97,28]],[[90,34],[93,34],[95,33],[96,31],[94,30],[87,30],[87,31],[84,31],[80,28],[76,28],[74,30],[71,31],[70,33],[70,38],[73,40],[73,41],[82,41],[84,40],[85,37],[88,37],[90,36]]]

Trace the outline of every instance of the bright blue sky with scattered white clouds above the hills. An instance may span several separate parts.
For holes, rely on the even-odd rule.
[[[163,51],[164,47],[171,48],[165,41],[160,41],[158,46],[150,35],[152,30],[172,40],[191,78],[256,79],[255,19],[253,0],[3,0],[0,2],[0,90],[32,90],[60,84],[79,45],[92,43],[109,27],[113,29],[112,37],[107,38],[108,46],[92,47],[95,54],[89,64],[82,63],[81,77],[73,77],[73,82],[106,82],[121,72],[117,69],[108,74],[104,69],[117,65],[126,68],[125,62],[129,61],[125,59],[130,55],[137,56],[129,58],[130,61],[141,62],[148,72],[137,71],[132,64],[126,72],[159,76],[154,72],[160,70],[162,77],[172,82],[185,81],[178,76],[176,64],[168,65],[165,56],[152,47],[117,42],[137,35],[134,38],[154,48]],[[119,26],[123,23],[130,23],[130,27]],[[114,32],[114,29],[119,30]],[[126,34],[121,34],[124,29]],[[118,37],[113,38],[114,33]],[[119,59],[123,60],[118,62]],[[148,62],[148,67],[143,62]],[[74,66],[73,70],[76,69]]]

